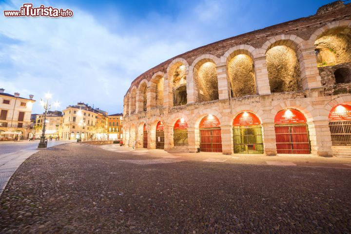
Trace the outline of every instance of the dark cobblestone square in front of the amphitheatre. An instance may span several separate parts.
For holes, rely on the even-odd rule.
[[[10,179],[0,196],[1,233],[351,233],[350,160],[338,161],[341,168],[317,157],[277,166],[54,148],[29,157]],[[300,165],[306,160],[322,167]]]

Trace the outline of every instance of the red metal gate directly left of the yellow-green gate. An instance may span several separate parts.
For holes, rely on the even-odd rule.
[[[222,152],[220,128],[200,129],[200,150],[202,152]]]

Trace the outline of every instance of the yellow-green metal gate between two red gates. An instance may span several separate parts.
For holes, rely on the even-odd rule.
[[[261,125],[233,127],[234,154],[263,154]]]

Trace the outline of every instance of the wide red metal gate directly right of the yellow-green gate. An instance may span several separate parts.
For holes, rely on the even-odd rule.
[[[275,125],[278,154],[311,154],[307,124]]]

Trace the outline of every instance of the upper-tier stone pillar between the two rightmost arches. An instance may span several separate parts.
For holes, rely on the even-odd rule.
[[[297,58],[300,63],[303,89],[321,87],[321,78],[317,68],[317,59],[313,41],[305,40],[299,44]]]

